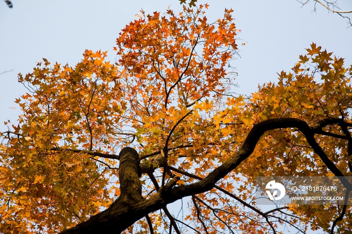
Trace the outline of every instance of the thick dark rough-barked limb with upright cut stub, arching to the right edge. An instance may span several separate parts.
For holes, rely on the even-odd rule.
[[[319,125],[312,128],[306,122],[292,118],[267,120],[258,123],[253,126],[242,147],[203,180],[189,185],[175,186],[179,179],[175,177],[165,186],[160,187],[158,192],[149,199],[143,199],[141,196],[138,168],[140,173],[142,167],[138,166],[138,153],[132,148],[124,148],[120,153],[121,197],[107,210],[61,233],[96,233],[99,231],[104,231],[104,233],[120,233],[138,219],[150,212],[163,208],[166,204],[186,196],[209,191],[215,186],[218,180],[239,166],[243,160],[251,155],[256,143],[266,131],[274,129],[295,128],[300,131],[327,168],[335,176],[340,176],[342,184],[351,190],[351,184],[343,177],[343,173],[330,161],[314,139],[314,134],[319,132],[322,127],[329,124],[338,124],[340,121],[342,120],[331,118],[321,121]]]

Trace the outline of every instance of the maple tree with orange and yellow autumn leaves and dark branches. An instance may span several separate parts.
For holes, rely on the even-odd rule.
[[[236,95],[232,10],[209,24],[207,7],[142,12],[115,64],[86,50],[74,67],[43,58],[19,74],[29,91],[1,133],[1,232],[352,228],[346,205],[263,212],[251,195],[259,175],[340,176],[349,195],[352,67],[313,43],[277,84]],[[181,219],[167,205],[184,197]]]

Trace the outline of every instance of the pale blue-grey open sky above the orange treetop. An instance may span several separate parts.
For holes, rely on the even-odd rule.
[[[301,8],[295,0],[198,1],[210,5],[206,11],[210,22],[223,17],[225,8],[234,10],[241,30],[240,57],[232,64],[238,72],[236,93],[250,94],[258,84],[276,82],[277,72],[289,71],[312,42],[352,64],[352,27],[323,7],[317,6],[314,13],[313,4]],[[0,131],[6,131],[4,121],[16,123],[21,114],[14,101],[26,89],[18,83],[18,73],[31,72],[42,58],[74,66],[85,49],[109,51],[108,58],[114,61],[116,37],[141,9],[146,14],[163,13],[168,7],[182,10],[178,0],[11,2],[13,9],[0,1],[0,73],[10,71],[0,75]],[[352,1],[338,4],[352,10]]]

